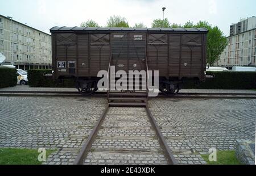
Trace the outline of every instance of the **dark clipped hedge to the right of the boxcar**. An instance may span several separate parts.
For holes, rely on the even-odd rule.
[[[200,85],[194,85],[193,82],[186,82],[184,89],[255,89],[255,72],[207,72],[208,75],[214,75],[212,79],[206,79]]]

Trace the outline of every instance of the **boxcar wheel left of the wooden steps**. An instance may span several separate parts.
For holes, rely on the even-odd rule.
[[[97,88],[97,82],[89,82],[89,83],[83,83],[83,82],[77,82],[76,86],[77,90],[79,91],[80,94],[82,95],[92,95],[95,93],[98,88]]]

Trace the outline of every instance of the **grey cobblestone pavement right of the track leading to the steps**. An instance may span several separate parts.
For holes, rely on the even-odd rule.
[[[255,103],[256,99],[155,99],[150,109],[176,159],[202,164],[199,153],[213,147],[234,150],[236,139],[255,139]]]

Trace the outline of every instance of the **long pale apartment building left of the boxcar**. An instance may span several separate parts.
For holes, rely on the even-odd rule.
[[[51,35],[0,15],[0,53],[6,57],[5,65],[24,70],[49,69]]]

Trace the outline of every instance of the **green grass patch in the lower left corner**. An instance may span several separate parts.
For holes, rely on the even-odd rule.
[[[46,150],[46,158],[56,150]],[[40,165],[37,149],[0,148],[0,165]]]

